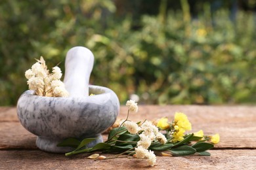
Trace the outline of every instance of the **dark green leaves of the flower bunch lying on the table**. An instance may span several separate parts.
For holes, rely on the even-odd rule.
[[[150,145],[149,149],[154,151],[167,151],[175,156],[186,156],[191,154],[198,154],[200,156],[210,156],[211,154],[206,150],[213,148],[213,144],[206,143],[205,141],[198,141],[202,137],[196,137],[193,133],[186,135],[184,140],[179,143],[161,144],[160,142],[154,142]],[[135,152],[135,147],[137,142],[140,140],[138,134],[131,134],[127,131],[126,127],[116,127],[110,131],[108,135],[108,140],[104,143],[98,143],[91,148],[87,148],[87,145],[96,138],[83,139],[83,141],[78,141],[75,138],[68,138],[57,146],[69,146],[75,148],[72,152],[68,152],[65,155],[71,156],[74,154],[80,154],[84,152],[108,152],[108,153],[122,153],[131,154]],[[190,145],[192,141],[197,141],[196,143]]]

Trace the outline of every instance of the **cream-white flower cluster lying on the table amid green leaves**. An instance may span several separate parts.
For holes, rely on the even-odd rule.
[[[135,153],[137,158],[146,158],[148,164],[154,166],[156,163],[156,155],[153,151],[148,150],[151,143],[159,141],[162,144],[167,142],[165,136],[158,131],[158,127],[154,126],[151,122],[145,121],[141,126],[135,122],[127,121],[123,124],[131,134],[139,134],[140,141],[137,143]]]

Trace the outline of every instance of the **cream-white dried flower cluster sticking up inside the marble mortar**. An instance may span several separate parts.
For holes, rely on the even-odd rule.
[[[64,83],[60,80],[62,73],[59,67],[53,67],[53,73],[49,74],[43,57],[37,60],[25,73],[28,78],[30,90],[35,94],[48,97],[68,97]]]

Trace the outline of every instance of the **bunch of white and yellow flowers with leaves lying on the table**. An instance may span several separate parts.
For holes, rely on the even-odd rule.
[[[116,155],[102,156],[101,158],[99,154],[96,156],[93,154],[89,158],[107,160],[133,156],[134,158],[146,159],[148,165],[154,166],[156,163],[154,152],[161,152],[162,156],[190,154],[210,156],[210,153],[206,150],[213,148],[213,144],[219,142],[219,134],[204,136],[203,131],[185,134],[186,131],[192,128],[187,116],[182,112],[175,113],[172,122],[169,122],[168,118],[161,118],[155,126],[148,120],[137,123],[129,120],[129,112],[137,112],[138,106],[132,100],[127,101],[126,106],[128,107],[127,118],[123,122],[119,122],[118,127],[110,130],[108,140],[104,143],[98,143],[92,148],[87,148],[87,144],[96,140],[96,138],[83,139],[83,141],[68,138],[57,146],[74,148],[72,152],[66,153],[66,156],[83,152],[108,152],[116,153]],[[163,133],[161,133],[162,131]],[[194,144],[191,144],[192,141],[194,141]]]

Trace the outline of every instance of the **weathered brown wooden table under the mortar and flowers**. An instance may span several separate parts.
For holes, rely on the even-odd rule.
[[[184,112],[192,123],[192,131],[219,133],[221,142],[210,150],[211,156],[157,156],[154,167],[146,160],[118,158],[89,160],[88,154],[66,157],[43,152],[35,146],[35,135],[21,126],[15,107],[0,107],[0,169],[256,169],[256,107],[140,105],[130,120],[173,118]],[[121,107],[119,118],[127,108]],[[109,156],[109,155],[106,155]]]

